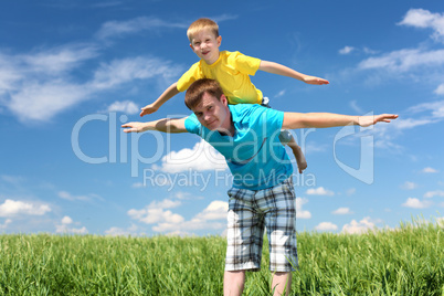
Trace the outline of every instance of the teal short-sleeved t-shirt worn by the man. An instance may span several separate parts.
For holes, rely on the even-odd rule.
[[[262,190],[277,186],[293,173],[292,162],[279,141],[284,113],[257,104],[229,105],[235,134],[223,136],[202,126],[194,114],[186,128],[225,157],[233,187]]]

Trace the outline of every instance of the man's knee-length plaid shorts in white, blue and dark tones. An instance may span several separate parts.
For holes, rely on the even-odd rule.
[[[296,195],[292,178],[273,188],[229,190],[225,271],[261,269],[264,230],[268,236],[269,271],[298,266]]]

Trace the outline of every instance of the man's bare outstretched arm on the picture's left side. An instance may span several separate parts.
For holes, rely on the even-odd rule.
[[[162,133],[176,134],[187,133],[184,120],[187,118],[163,118],[148,123],[128,123],[121,125],[125,133],[142,133],[146,130],[158,130]]]

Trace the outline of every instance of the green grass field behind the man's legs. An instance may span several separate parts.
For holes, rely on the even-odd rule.
[[[444,296],[444,229],[298,233],[292,295]],[[268,253],[244,295],[269,295]],[[225,240],[0,235],[0,295],[222,295]]]

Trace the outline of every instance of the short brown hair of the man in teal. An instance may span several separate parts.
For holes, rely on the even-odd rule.
[[[203,78],[193,82],[190,87],[188,87],[186,93],[186,105],[189,109],[193,109],[202,101],[203,94],[209,94],[214,96],[216,99],[221,101],[223,95],[222,87],[214,80]]]

